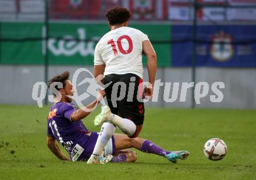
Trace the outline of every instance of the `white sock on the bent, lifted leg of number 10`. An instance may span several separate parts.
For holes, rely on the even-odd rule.
[[[108,120],[109,123],[116,125],[123,133],[127,134],[129,137],[132,136],[136,131],[136,125],[129,119],[122,118],[116,114],[111,113]]]

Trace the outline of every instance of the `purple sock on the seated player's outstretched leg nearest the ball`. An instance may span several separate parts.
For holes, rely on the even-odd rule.
[[[157,154],[159,156],[166,156],[166,154],[170,154],[171,152],[168,150],[164,150],[155,143],[152,143],[149,140],[146,140],[143,142],[142,146],[140,147],[140,150],[144,153],[152,153]]]

